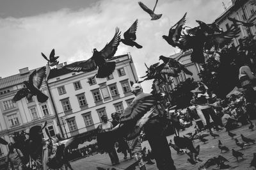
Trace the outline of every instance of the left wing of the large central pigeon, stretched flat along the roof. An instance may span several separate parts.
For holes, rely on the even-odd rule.
[[[73,72],[90,72],[97,68],[94,59],[90,58],[86,61],[77,61],[70,65],[64,66],[68,70],[72,70]]]

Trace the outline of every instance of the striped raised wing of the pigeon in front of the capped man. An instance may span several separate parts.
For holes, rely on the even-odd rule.
[[[120,123],[139,120],[153,105],[157,104],[157,98],[154,95],[143,97],[127,107],[120,118]]]

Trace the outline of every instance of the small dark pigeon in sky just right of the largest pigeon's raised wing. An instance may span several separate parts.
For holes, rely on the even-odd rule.
[[[121,38],[121,42],[131,47],[135,46],[137,49],[141,49],[142,46],[134,42],[136,40],[136,31],[138,26],[138,19],[132,24],[131,27],[124,33],[124,39]]]

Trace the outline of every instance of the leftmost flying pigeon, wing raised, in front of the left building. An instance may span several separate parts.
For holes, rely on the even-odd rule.
[[[46,102],[48,97],[40,91],[40,87],[45,77],[45,67],[41,67],[38,70],[34,70],[29,75],[29,81],[24,81],[26,88],[22,88],[12,98],[12,102],[17,102],[22,98],[26,97],[31,100],[33,96],[36,96],[38,102]]]

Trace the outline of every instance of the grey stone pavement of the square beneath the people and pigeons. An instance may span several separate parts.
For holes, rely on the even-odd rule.
[[[253,120],[253,125],[255,125],[256,120]],[[236,130],[232,130],[231,132],[237,134],[235,138],[237,138],[239,141],[242,141],[240,134],[243,134],[245,137],[250,137],[251,139],[256,139],[256,127],[255,130],[250,130],[249,127],[250,124],[245,125],[241,128],[237,128]],[[195,125],[194,125],[195,126]],[[187,128],[186,130],[184,130],[183,132],[180,132],[180,136],[187,134],[188,132],[195,132],[195,130],[193,129],[194,126],[191,126],[189,128]],[[209,133],[207,131],[202,132],[202,134],[206,134]],[[207,141],[207,143],[202,143],[200,142],[198,139],[195,140],[194,142],[194,146],[197,146],[198,144],[200,144],[200,154],[199,154],[199,158],[201,160],[203,160],[203,162],[199,162],[198,164],[196,164],[195,166],[191,165],[187,159],[188,159],[188,155],[186,154],[177,154],[177,152],[175,150],[173,150],[173,148],[171,148],[172,150],[172,158],[174,160],[175,166],[177,167],[177,169],[181,170],[181,169],[198,169],[199,166],[201,166],[202,164],[204,164],[204,162],[212,157],[218,157],[218,155],[221,155],[225,158],[227,158],[230,162],[228,162],[228,164],[231,166],[229,169],[253,169],[253,167],[250,167],[250,162],[253,158],[253,153],[256,153],[256,144],[251,144],[250,146],[246,146],[243,150],[241,150],[239,148],[239,146],[236,146],[236,143],[234,141],[234,139],[231,139],[230,136],[228,136],[227,132],[225,132],[225,130],[221,130],[219,132],[215,132],[214,134],[219,134],[220,137],[216,137],[216,139],[214,139],[211,135],[205,137],[205,139],[209,139],[209,141]],[[168,141],[170,141],[170,139],[173,140],[173,135],[170,135],[167,137]],[[227,151],[226,153],[221,153],[220,149],[218,148],[218,140],[221,140],[221,143],[223,143],[225,146],[227,146],[230,151]],[[147,150],[150,149],[150,146],[148,144],[147,141],[144,141],[142,143],[142,146],[146,147]],[[234,148],[234,150],[238,150],[241,151],[242,153],[244,153],[244,160],[239,158],[239,161],[236,161],[236,158],[232,156],[232,148]],[[114,166],[116,169],[125,169],[126,167],[128,167],[129,165],[132,164],[132,162],[134,162],[134,160],[124,160],[124,155],[122,153],[118,153],[118,157],[120,159],[120,164],[117,166]],[[153,162],[156,162],[155,160],[153,160]],[[226,163],[227,164],[227,163]],[[96,167],[104,167],[104,168],[108,168],[108,167],[113,167],[111,166],[111,162],[110,159],[108,157],[108,154],[97,154],[97,155],[93,155],[91,157],[86,157],[80,160],[77,160],[75,162],[72,162],[72,166],[74,167],[74,169],[97,169]],[[146,164],[147,169],[157,169],[156,164],[154,165],[147,165]],[[219,169],[217,166],[211,166],[209,169]],[[255,168],[254,168],[255,169]]]

